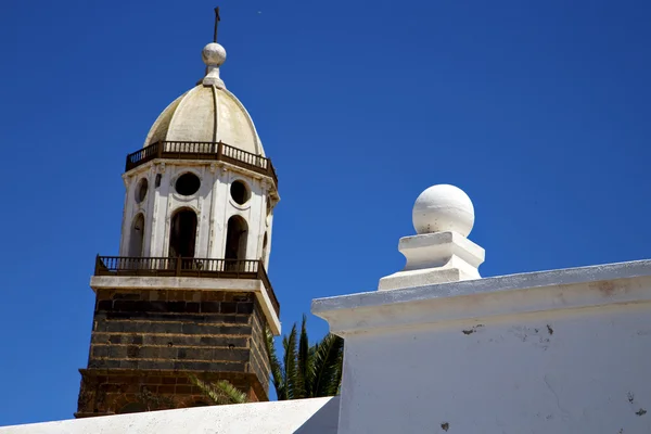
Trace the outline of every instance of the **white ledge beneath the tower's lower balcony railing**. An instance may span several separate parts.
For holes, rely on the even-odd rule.
[[[90,288],[97,290],[181,290],[253,292],[267,317],[273,335],[281,333],[280,318],[273,309],[264,283],[257,279],[176,278],[136,276],[93,276]]]

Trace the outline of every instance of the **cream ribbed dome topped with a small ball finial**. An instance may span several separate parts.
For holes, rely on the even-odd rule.
[[[150,129],[144,146],[158,141],[224,142],[265,156],[263,143],[244,105],[219,78],[226,51],[218,43],[203,50],[207,74],[197,86],[169,104]]]

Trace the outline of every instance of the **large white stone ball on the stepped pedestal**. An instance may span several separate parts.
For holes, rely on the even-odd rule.
[[[417,233],[457,232],[468,237],[474,225],[474,207],[463,190],[432,186],[416,200],[412,220]]]

